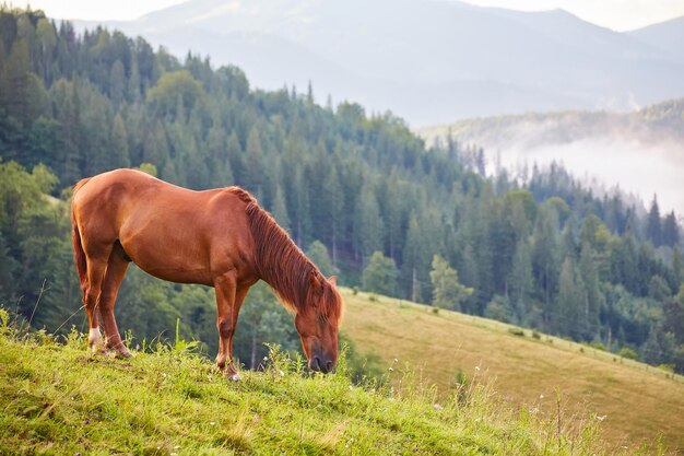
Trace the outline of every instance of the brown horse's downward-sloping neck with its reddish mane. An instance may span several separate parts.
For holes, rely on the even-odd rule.
[[[307,312],[307,303],[316,299],[320,303],[321,318],[339,318],[341,303],[318,267],[304,255],[271,214],[259,206],[256,198],[239,187],[228,187],[228,190],[246,204],[245,212],[255,239],[257,272],[275,291],[285,308],[294,313]],[[321,296],[310,296],[311,277],[320,282]]]

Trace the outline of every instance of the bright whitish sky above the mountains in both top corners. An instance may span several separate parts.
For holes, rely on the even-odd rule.
[[[31,4],[57,19],[130,20],[185,0],[10,0]],[[245,0],[249,1],[249,0]],[[328,0],[325,0],[328,1]],[[372,0],[370,0],[372,1]],[[627,31],[684,15],[684,0],[464,0],[468,3],[511,10],[542,11],[562,8],[586,21]]]

